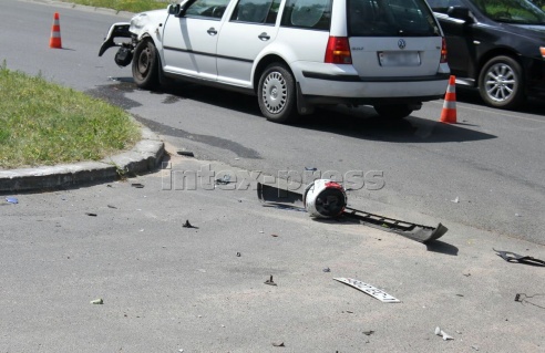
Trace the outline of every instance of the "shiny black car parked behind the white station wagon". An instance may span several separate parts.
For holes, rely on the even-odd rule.
[[[514,108],[545,96],[545,12],[527,0],[428,0],[446,38],[456,84]]]

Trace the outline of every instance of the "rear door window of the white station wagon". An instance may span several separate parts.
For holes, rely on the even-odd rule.
[[[275,24],[280,0],[240,0],[230,21]]]

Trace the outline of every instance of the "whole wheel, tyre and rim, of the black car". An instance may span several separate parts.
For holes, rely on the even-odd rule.
[[[521,64],[510,56],[489,60],[479,75],[479,93],[491,106],[511,110],[524,101],[524,76]]]

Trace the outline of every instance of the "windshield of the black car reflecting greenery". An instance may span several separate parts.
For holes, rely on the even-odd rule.
[[[486,17],[497,22],[545,24],[545,12],[527,0],[471,0]]]

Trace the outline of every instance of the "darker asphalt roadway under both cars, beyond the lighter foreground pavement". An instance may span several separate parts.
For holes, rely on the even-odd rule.
[[[55,11],[63,50],[48,46]],[[441,101],[400,123],[360,107],[320,111],[296,126],[278,125],[260,116],[255,97],[194,84],[137,90],[130,68],[113,62],[115,50],[97,56],[110,24],[127,21],[128,14],[14,0],[2,1],[0,13],[0,60],[9,69],[107,98],[199,159],[270,175],[304,175],[305,167],[341,175],[380,172],[383,187],[374,190],[377,185],[367,183],[350,193],[352,205],[545,243],[543,103],[505,112],[459,90],[456,125],[438,123]]]

